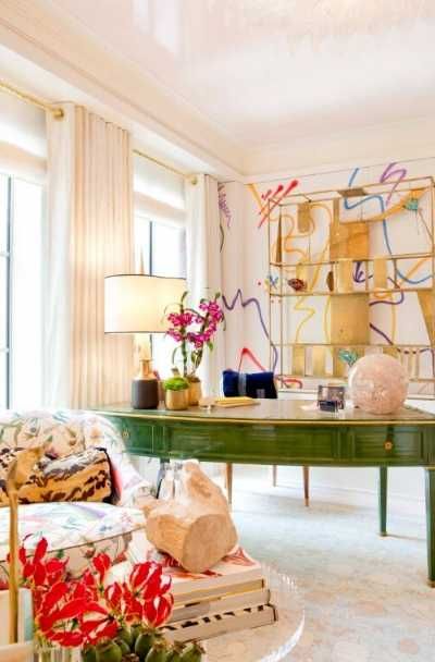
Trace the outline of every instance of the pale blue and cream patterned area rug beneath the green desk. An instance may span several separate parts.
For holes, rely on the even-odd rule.
[[[240,481],[241,482],[241,481]],[[245,548],[294,576],[306,605],[294,662],[435,660],[435,589],[426,585],[425,525],[374,508],[263,493],[236,485],[233,514]]]

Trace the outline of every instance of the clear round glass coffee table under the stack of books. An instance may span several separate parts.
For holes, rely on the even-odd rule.
[[[278,662],[291,660],[291,650],[304,626],[302,599],[296,583],[274,568],[263,566],[278,621],[254,629],[221,635],[203,642],[207,662]]]

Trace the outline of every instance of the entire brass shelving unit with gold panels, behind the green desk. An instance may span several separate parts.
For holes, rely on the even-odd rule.
[[[324,381],[343,381],[347,366],[338,353],[346,348],[358,356],[373,352],[396,356],[406,366],[415,392],[423,389],[425,395],[435,396],[433,179],[414,177],[398,184],[294,193],[283,199],[269,198],[266,208],[270,365],[282,378],[282,383],[301,381],[304,388],[315,389]],[[326,212],[328,228],[325,231],[323,223],[324,246],[313,253],[316,209]],[[359,218],[356,209],[360,212]],[[386,223],[401,222],[405,226],[407,218],[415,218],[415,226],[422,233],[419,242],[424,246],[409,250],[415,247],[410,241],[408,252],[391,253],[385,240],[386,252],[380,254],[378,246],[374,246],[374,235],[377,233],[378,237],[381,231],[385,232]],[[286,222],[293,229],[296,226],[293,244],[286,233]],[[302,257],[295,259],[295,254]],[[428,275],[422,283],[413,282],[419,279],[411,279],[410,274],[420,273],[423,263],[425,273],[428,268]],[[320,282],[322,279],[324,284]],[[406,297],[410,296],[414,298],[413,310],[418,306],[421,312],[419,320],[415,319],[420,324],[419,333],[410,322],[409,338],[403,339],[400,333],[400,342],[395,339],[391,342],[386,333],[376,329],[373,307],[381,303],[397,307],[403,301],[409,302]],[[315,312],[323,316],[327,333],[325,331],[323,339],[306,340],[300,329],[313,317],[313,306],[322,307]],[[301,311],[309,311],[309,316],[295,333],[291,318]],[[395,320],[396,315],[396,311],[391,312]],[[374,329],[378,336],[385,336],[385,343],[372,342]],[[421,342],[424,335],[426,344]],[[420,342],[415,342],[415,338]]]

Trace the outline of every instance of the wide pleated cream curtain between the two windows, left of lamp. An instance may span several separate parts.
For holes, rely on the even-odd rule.
[[[133,261],[129,134],[85,108],[48,115],[44,405],[129,400],[133,346],[104,336],[104,275]]]

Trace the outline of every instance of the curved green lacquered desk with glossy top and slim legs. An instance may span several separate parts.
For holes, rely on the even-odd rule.
[[[387,468],[421,466],[426,478],[428,581],[435,586],[435,416],[411,407],[374,416],[319,412],[312,401],[187,412],[98,409],[133,455],[265,465],[380,467],[380,532],[386,535]]]

